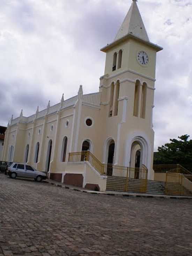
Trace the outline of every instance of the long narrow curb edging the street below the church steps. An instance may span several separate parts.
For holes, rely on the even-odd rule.
[[[104,196],[122,196],[122,197],[144,197],[144,198],[158,198],[158,199],[192,199],[192,197],[185,197],[185,196],[166,196],[166,195],[138,195],[138,194],[128,194],[128,193],[110,193],[110,192],[97,192],[97,191],[92,191],[92,190],[84,190],[84,189],[77,189],[77,188],[71,188],[70,186],[66,186],[66,185],[61,185],[61,184],[55,184],[53,182],[49,182],[49,181],[43,181],[44,183],[48,183],[51,184],[53,186],[57,186],[58,188],[64,188],[64,189],[70,189],[73,191],[77,191],[77,192],[82,192],[82,193],[89,193],[89,194],[94,194],[94,195],[104,195]]]

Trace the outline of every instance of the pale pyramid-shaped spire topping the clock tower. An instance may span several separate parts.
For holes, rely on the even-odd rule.
[[[115,41],[124,37],[128,33],[138,36],[145,41],[149,41],[149,37],[136,2],[137,0],[133,0],[125,20],[116,35]]]

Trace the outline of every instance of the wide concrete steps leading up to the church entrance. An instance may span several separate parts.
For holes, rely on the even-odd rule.
[[[127,192],[136,192],[143,193],[146,188],[145,180],[135,180],[128,179],[128,191]],[[182,191],[182,196],[191,196],[192,193],[177,183],[168,183],[168,191],[169,195],[181,195],[180,191]],[[106,190],[108,191],[122,191],[125,192],[126,189],[126,178],[125,177],[115,177],[108,176],[107,177],[107,185]],[[144,189],[144,191],[143,191]],[[147,181],[147,191],[145,193],[155,194],[155,195],[165,195],[165,182],[161,181]]]

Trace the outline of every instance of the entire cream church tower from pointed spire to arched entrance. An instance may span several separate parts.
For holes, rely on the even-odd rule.
[[[132,0],[114,41],[101,49],[106,61],[99,88],[106,134],[116,138],[114,163],[145,165],[153,180],[156,54],[163,48],[150,42],[136,2]]]

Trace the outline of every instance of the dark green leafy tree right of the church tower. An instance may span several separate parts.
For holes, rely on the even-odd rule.
[[[192,170],[192,140],[185,134],[178,139],[170,139],[170,143],[158,147],[154,153],[154,164],[181,164]]]

